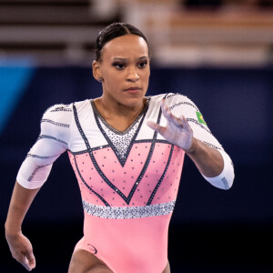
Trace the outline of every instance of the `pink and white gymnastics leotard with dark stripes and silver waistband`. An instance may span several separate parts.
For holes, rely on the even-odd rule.
[[[197,106],[179,94],[147,97],[141,114],[122,132],[107,124],[92,99],[52,106],[17,175],[23,187],[41,187],[53,162],[68,150],[85,211],[84,238],[76,249],[95,254],[113,272],[161,273],[167,265],[168,225],[185,153],[147,126],[147,120],[167,124],[160,109],[164,97],[175,116],[186,116],[194,137],[221,153],[224,169],[207,181],[231,187],[230,158]]]

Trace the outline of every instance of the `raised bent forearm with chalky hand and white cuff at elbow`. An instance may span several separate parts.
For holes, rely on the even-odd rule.
[[[190,157],[203,177],[215,187],[228,189],[232,186],[234,170],[230,158],[224,150],[208,147],[193,136],[193,130],[185,116],[174,116],[162,101],[161,109],[167,119],[167,126],[159,126],[153,121],[147,125],[164,136],[167,141],[181,147]]]

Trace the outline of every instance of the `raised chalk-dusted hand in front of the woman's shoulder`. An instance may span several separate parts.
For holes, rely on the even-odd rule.
[[[162,100],[161,109],[163,116],[167,119],[167,126],[159,126],[153,121],[148,121],[147,126],[164,136],[168,142],[188,151],[192,147],[193,130],[188,125],[186,117],[174,116],[166,105],[165,99]]]

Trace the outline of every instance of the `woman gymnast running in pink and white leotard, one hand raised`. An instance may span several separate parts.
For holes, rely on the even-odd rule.
[[[209,183],[231,187],[231,160],[197,106],[179,94],[146,96],[149,62],[145,35],[133,25],[108,25],[97,37],[93,62],[103,95],[45,111],[5,223],[12,255],[28,270],[35,257],[22,222],[66,150],[85,211],[69,273],[170,272],[167,230],[185,154]]]

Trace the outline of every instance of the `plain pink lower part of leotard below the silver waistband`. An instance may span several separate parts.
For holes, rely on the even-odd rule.
[[[96,255],[115,273],[161,273],[170,217],[105,219],[85,213],[85,237],[75,249]]]

